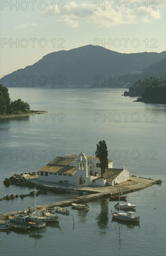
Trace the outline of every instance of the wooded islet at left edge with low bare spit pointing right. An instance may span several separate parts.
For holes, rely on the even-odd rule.
[[[30,110],[30,105],[21,99],[11,101],[8,88],[0,84],[0,119],[26,117],[47,111]]]

